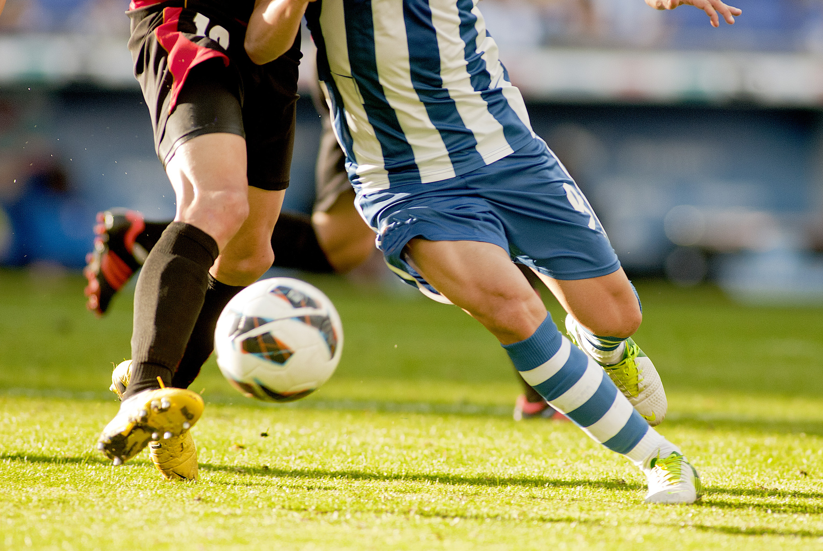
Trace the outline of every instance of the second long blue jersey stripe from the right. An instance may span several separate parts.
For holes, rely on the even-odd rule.
[[[431,20],[428,0],[403,0],[403,19],[409,49],[409,66],[417,97],[425,105],[431,123],[440,133],[454,166],[472,163],[482,166],[474,133],[463,124],[449,91],[440,77],[437,31]]]

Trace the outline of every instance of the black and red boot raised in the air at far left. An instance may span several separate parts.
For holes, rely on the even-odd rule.
[[[86,285],[86,308],[104,315],[109,302],[142,266],[148,254],[137,243],[146,227],[140,212],[127,208],[112,208],[97,213],[95,250],[86,254],[83,274]]]

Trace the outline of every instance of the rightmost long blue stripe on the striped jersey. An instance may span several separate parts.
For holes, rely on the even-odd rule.
[[[472,0],[457,0],[460,13],[460,38],[466,44],[463,53],[466,57],[467,71],[471,76],[472,86],[481,92],[481,97],[489,106],[489,113],[503,126],[503,133],[509,146],[516,150],[523,145],[526,138],[531,139],[532,133],[512,110],[509,100],[506,100],[500,88],[489,89],[491,75],[486,68],[486,61],[477,53],[477,16],[472,13]],[[505,74],[505,73],[504,73]],[[508,74],[506,80],[509,80]]]

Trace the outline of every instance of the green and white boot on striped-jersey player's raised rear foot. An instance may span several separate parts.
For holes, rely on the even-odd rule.
[[[571,342],[583,350],[588,357],[592,357],[586,348],[580,346],[584,337],[581,334],[583,329],[577,320],[574,320],[571,315],[566,315],[565,326]],[[593,359],[597,362],[596,358]],[[652,361],[640,350],[635,341],[625,339],[625,353],[620,362],[614,365],[597,363],[602,366],[611,381],[629,399],[630,404],[649,425],[654,427],[663,421],[668,409],[666,390],[663,389],[658,370],[654,368]]]

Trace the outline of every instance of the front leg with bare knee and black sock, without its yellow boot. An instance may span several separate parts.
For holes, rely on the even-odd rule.
[[[214,133],[178,147],[166,172],[174,222],[146,257],[134,295],[132,381],[124,398],[171,385],[208,287],[209,269],[247,213],[243,138]]]

